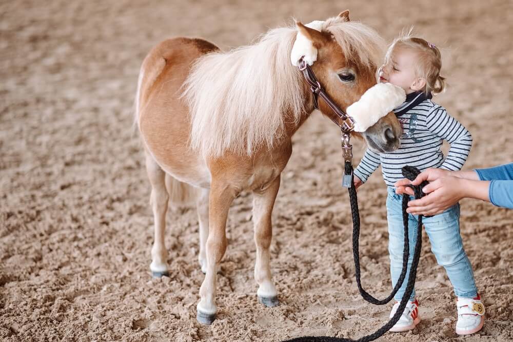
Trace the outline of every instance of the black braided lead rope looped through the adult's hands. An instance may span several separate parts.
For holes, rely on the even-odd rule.
[[[350,162],[345,162],[345,174],[351,174],[352,175],[352,165]],[[419,169],[411,166],[405,166],[402,168],[403,176],[413,180],[417,177],[417,175],[420,173]],[[427,185],[427,182],[423,182],[420,186],[410,186],[413,188],[413,191],[415,193],[415,198],[421,198],[424,194],[422,192],[422,187]],[[408,213],[406,212],[406,209],[408,208],[408,201],[409,196],[403,195],[402,200],[402,209],[403,209],[403,225],[404,225],[404,249],[403,249],[403,268],[401,271],[401,276],[398,279],[398,282],[396,286],[394,286],[392,293],[390,296],[388,296],[385,299],[379,300],[374,297],[372,297],[370,294],[368,294],[363,288],[360,283],[360,253],[359,253],[359,243],[358,239],[360,237],[360,213],[358,210],[358,198],[356,195],[356,188],[354,187],[354,183],[351,182],[351,187],[349,190],[349,199],[351,203],[351,213],[352,213],[352,219],[353,219],[353,257],[354,257],[354,268],[356,271],[356,278],[357,278],[357,284],[358,289],[360,291],[360,294],[362,297],[369,301],[369,303],[373,304],[385,304],[387,303],[394,294],[397,293],[398,289],[401,287],[401,285],[404,282],[404,278],[406,276],[406,270],[407,270],[407,261],[409,258],[409,243],[408,243]],[[417,278],[417,267],[419,266],[419,259],[420,259],[420,251],[422,247],[422,215],[419,215],[418,224],[417,224],[417,243],[415,244],[415,251],[413,252],[413,260],[411,263],[410,273],[408,277],[408,283],[406,284],[406,290],[404,292],[403,297],[401,298],[401,303],[399,304],[399,308],[397,309],[396,313],[392,316],[392,318],[380,329],[378,329],[376,332],[363,336],[357,340],[353,340],[350,338],[338,338],[338,337],[329,337],[329,336],[304,336],[304,337],[297,337],[292,338],[289,340],[286,340],[284,342],[349,342],[349,341],[359,341],[359,342],[368,342],[373,341],[381,336],[383,336],[390,328],[392,328],[401,317],[404,309],[406,308],[406,304],[408,303],[408,300],[410,299],[411,293],[413,292],[413,286],[415,285],[415,280]],[[388,300],[387,300],[388,299]],[[386,301],[385,301],[386,300]]]

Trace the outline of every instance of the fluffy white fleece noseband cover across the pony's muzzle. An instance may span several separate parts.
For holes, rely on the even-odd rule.
[[[365,132],[405,99],[404,89],[393,84],[378,83],[370,87],[357,102],[347,107],[347,115],[355,122],[354,131]]]

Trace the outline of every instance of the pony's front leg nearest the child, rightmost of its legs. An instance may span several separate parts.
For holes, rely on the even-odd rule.
[[[279,188],[280,176],[276,177],[264,190],[253,192],[254,239],[257,245],[255,280],[259,285],[258,300],[267,307],[279,304],[278,292],[272,283],[269,265],[269,246],[272,238],[271,213]]]

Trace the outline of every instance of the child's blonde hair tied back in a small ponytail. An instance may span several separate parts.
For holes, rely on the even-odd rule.
[[[387,66],[394,51],[397,49],[408,49],[417,53],[418,59],[416,63],[416,76],[422,77],[426,81],[423,91],[433,93],[433,95],[441,93],[445,86],[445,77],[440,75],[442,69],[442,54],[440,50],[425,39],[412,37],[412,29],[407,32],[401,32],[399,37],[394,39],[385,56],[385,64]],[[380,68],[381,69],[381,68]]]

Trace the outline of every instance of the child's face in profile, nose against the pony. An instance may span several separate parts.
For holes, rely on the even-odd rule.
[[[391,83],[404,89],[406,94],[417,91],[415,62],[417,54],[407,49],[396,49],[390,56],[388,64],[383,65],[379,72],[381,83]]]

